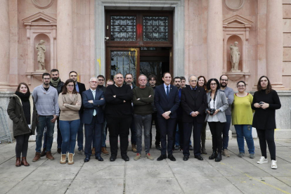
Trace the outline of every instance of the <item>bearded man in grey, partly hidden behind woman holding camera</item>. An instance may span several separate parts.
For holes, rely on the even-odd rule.
[[[226,123],[224,124],[224,129],[222,131],[223,138],[222,138],[222,155],[226,157],[230,157],[227,147],[228,147],[228,131],[231,127],[231,105],[233,104],[233,89],[227,86],[228,84],[228,77],[227,75],[221,75],[220,79],[220,91],[223,91],[226,94],[226,99],[228,101],[228,109],[226,109]]]

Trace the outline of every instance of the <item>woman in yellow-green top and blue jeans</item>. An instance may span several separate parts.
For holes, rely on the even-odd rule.
[[[238,93],[234,94],[231,110],[232,122],[238,141],[238,157],[245,155],[245,141],[249,148],[250,158],[254,159],[254,139],[252,138],[252,94],[245,92],[245,82],[236,84]],[[244,138],[245,137],[245,141]]]

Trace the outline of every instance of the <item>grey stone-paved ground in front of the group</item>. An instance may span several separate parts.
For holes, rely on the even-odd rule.
[[[109,145],[109,143],[107,142]],[[15,143],[0,144],[0,193],[291,193],[291,141],[276,141],[278,169],[268,164],[257,164],[260,150],[255,140],[256,158],[236,156],[238,146],[229,143],[231,157],[221,162],[208,160],[211,141],[207,141],[204,161],[193,155],[187,162],[182,153],[176,152],[176,162],[150,161],[144,157],[134,161],[135,153],[129,146],[129,162],[120,155],[115,162],[109,155],[103,162],[91,157],[84,163],[84,156],[75,155],[75,164],[60,164],[60,155],[53,143],[56,160],[42,157],[31,162],[35,143],[29,143],[27,160],[30,167],[15,167]],[[246,148],[247,150],[247,148]],[[160,152],[152,149],[155,159]]]

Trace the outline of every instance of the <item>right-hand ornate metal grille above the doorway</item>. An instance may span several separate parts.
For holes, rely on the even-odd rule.
[[[168,17],[143,17],[143,41],[168,41]]]

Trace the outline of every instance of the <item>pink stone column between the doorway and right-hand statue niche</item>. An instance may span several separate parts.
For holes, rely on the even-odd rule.
[[[223,68],[222,1],[208,0],[207,13],[207,72],[218,79]]]

